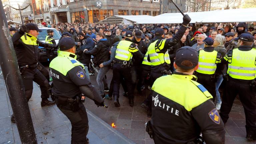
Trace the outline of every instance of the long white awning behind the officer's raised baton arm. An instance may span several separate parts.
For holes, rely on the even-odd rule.
[[[256,8],[229,9],[204,12],[189,12],[190,23],[256,22]],[[140,24],[182,23],[181,13],[164,13],[151,19],[142,19]]]

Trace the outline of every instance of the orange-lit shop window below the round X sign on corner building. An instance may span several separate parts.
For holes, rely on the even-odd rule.
[[[89,22],[99,22],[113,16],[113,10],[90,10],[88,11]]]

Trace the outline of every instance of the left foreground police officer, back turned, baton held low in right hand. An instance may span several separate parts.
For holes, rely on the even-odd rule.
[[[75,41],[64,37],[59,41],[60,53],[50,63],[53,77],[52,93],[57,107],[71,122],[71,144],[88,144],[88,118],[83,105],[84,96],[96,105],[104,106],[103,99],[85,76],[84,66],[76,60]],[[84,96],[81,95],[84,94]]]

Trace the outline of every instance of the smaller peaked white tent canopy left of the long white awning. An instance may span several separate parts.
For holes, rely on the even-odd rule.
[[[145,19],[151,19],[153,16],[149,15],[114,15],[106,18],[98,23],[124,23],[128,24],[130,22],[142,23]]]

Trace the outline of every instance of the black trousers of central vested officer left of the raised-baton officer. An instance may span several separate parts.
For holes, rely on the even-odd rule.
[[[113,65],[113,95],[119,97],[119,89],[120,89],[120,83],[122,79],[124,78],[127,92],[128,92],[128,98],[133,99],[134,95],[134,83],[131,79],[131,68],[130,67],[121,67],[121,64],[115,63]]]

